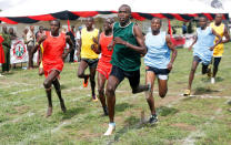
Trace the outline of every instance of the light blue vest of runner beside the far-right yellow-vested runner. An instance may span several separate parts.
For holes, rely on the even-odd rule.
[[[207,27],[205,30],[198,28],[197,33],[198,40],[193,46],[193,55],[199,56],[203,64],[209,64],[213,54],[210,48],[214,44],[215,35],[212,33],[212,28],[210,27]]]

